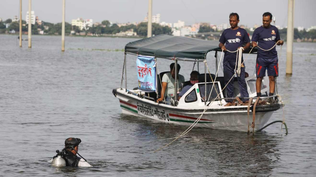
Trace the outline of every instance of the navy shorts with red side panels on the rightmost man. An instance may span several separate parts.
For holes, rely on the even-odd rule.
[[[256,74],[257,77],[264,77],[265,76],[265,70],[268,69],[268,76],[278,76],[279,75],[279,64],[278,58],[271,58],[271,59],[265,59],[265,58],[257,58],[257,64],[256,64]]]

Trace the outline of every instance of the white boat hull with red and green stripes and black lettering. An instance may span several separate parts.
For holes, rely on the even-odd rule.
[[[204,111],[204,109],[185,110],[173,106],[167,107],[165,104],[150,103],[153,101],[118,92],[115,95],[119,99],[122,113],[146,117],[165,123],[190,126]],[[237,108],[239,106],[234,107]],[[203,113],[195,126],[247,132],[248,124],[250,126],[252,124],[252,111],[250,111],[248,121],[245,106],[243,106],[243,109],[236,108],[233,110],[209,108]],[[273,110],[271,109],[270,111],[265,109],[264,111],[256,112],[255,131],[264,127],[264,124],[268,122],[272,113]],[[252,132],[251,127],[250,131]]]

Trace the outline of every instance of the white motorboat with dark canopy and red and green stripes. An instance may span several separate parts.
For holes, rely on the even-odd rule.
[[[126,44],[125,61],[126,54],[134,54],[155,57],[157,62],[159,59],[170,59],[175,63],[179,60],[204,62],[204,71],[206,73],[206,54],[210,51],[221,51],[218,48],[218,43],[187,37],[158,35]],[[124,69],[126,78],[126,65]],[[224,107],[226,98],[222,92],[222,87],[225,86],[223,77],[215,78],[214,75],[210,76],[209,73],[201,74],[204,82],[194,84],[179,101],[173,101],[172,106],[165,103],[156,103],[156,99],[158,98],[161,89],[159,82],[163,74],[164,73],[160,73],[159,75],[155,74],[156,92],[151,93],[146,93],[139,88],[126,88],[126,80],[125,88],[123,88],[122,78],[121,87],[115,88],[112,91],[112,93],[119,99],[122,112],[138,117],[146,117],[165,123],[174,123],[185,126],[190,126],[203,114],[195,126],[244,132],[248,131],[248,125],[251,126],[252,124],[252,111],[254,106],[250,106],[250,121],[248,121],[248,106]],[[210,77],[214,77],[214,82],[209,82]],[[250,97],[256,96],[255,78],[256,75],[246,78]],[[267,87],[269,83],[266,83],[266,81],[269,82],[269,79],[263,80],[261,90],[263,95],[266,95],[269,91],[269,87]],[[185,83],[183,83],[181,87],[183,87]],[[212,89],[212,87],[214,88]],[[235,90],[237,89],[235,88]],[[203,95],[207,95],[210,99],[204,101],[205,98]],[[235,96],[238,96],[238,90],[235,93]],[[177,93],[175,93],[175,98],[177,98]],[[279,100],[274,104],[257,105],[255,107],[254,131],[263,128],[270,119],[272,113],[282,106],[283,103]],[[168,125],[166,124],[166,126]]]

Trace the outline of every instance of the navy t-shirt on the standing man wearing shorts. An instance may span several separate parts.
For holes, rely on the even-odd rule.
[[[251,41],[258,42],[258,46],[262,49],[268,50],[280,40],[279,30],[275,26],[270,28],[264,28],[263,26],[258,27],[253,31]],[[258,48],[258,57],[264,59],[271,59],[277,57],[276,47],[269,51],[264,51]]]

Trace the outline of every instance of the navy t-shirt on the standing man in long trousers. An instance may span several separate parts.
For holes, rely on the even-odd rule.
[[[219,42],[225,44],[225,47],[229,51],[235,51],[239,47],[242,47],[243,44],[249,43],[250,39],[248,33],[245,29],[238,27],[237,30],[232,30],[231,28],[227,28],[223,31]],[[228,61],[236,61],[237,52],[231,53],[226,51],[224,55],[224,60]]]

